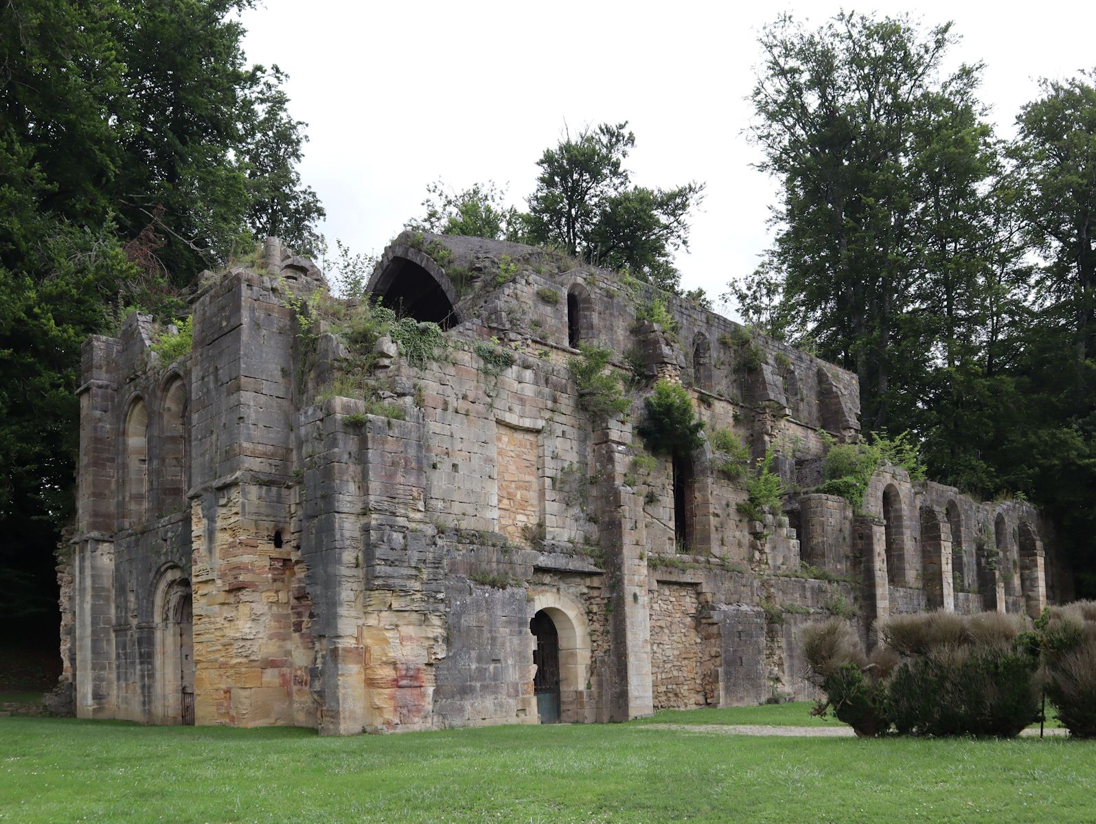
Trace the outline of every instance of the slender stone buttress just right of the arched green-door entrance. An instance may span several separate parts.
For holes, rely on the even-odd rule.
[[[615,662],[609,709],[613,721],[627,721],[654,711],[643,501],[624,482],[631,466],[630,444],[631,426],[619,420],[605,421],[594,431],[602,550],[613,593],[609,621]]]

